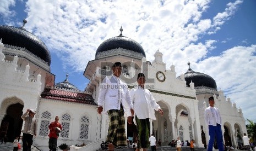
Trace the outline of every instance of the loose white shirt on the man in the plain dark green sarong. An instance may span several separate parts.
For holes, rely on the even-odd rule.
[[[130,97],[138,119],[150,118],[156,120],[154,109],[158,111],[161,107],[156,103],[155,98],[148,89],[137,86],[130,90]]]

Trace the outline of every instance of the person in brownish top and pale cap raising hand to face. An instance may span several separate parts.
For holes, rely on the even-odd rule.
[[[33,143],[33,137],[36,137],[37,121],[35,118],[35,109],[27,109],[26,112],[21,115],[21,119],[25,121],[23,132],[23,151],[31,151],[31,145]]]

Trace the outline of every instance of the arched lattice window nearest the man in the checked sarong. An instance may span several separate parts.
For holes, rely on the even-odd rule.
[[[89,132],[89,125],[90,125],[90,120],[89,117],[84,115],[80,119],[80,139],[88,139],[88,132]]]

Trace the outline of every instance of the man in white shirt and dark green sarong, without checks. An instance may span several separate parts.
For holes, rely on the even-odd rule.
[[[144,88],[145,81],[145,75],[143,73],[139,73],[137,76],[138,86],[130,90],[130,96],[134,107],[134,124],[137,125],[138,130],[137,151],[140,148],[143,148],[143,151],[145,151],[146,148],[149,147],[149,119],[156,120],[154,109],[159,111],[161,115],[164,114],[159,104],[156,103],[151,92]],[[158,143],[161,146],[161,139],[159,139]]]

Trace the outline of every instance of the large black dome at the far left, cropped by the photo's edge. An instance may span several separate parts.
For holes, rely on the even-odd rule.
[[[26,48],[30,53],[47,62],[49,66],[51,65],[51,54],[46,45],[34,34],[26,31],[25,28],[2,25],[0,26],[1,38],[3,44]]]

